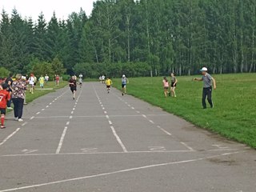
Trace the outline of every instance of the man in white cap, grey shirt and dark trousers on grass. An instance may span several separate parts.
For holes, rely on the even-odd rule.
[[[215,79],[210,76],[210,74],[207,73],[207,68],[202,67],[202,78],[194,78],[194,81],[203,82],[203,90],[202,90],[202,107],[203,109],[206,109],[206,97],[210,104],[210,108],[214,108],[214,104],[211,98],[211,93],[213,90],[216,90],[216,82]]]

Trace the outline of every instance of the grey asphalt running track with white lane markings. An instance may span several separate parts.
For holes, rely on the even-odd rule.
[[[255,150],[98,82],[7,118],[0,191],[256,191]]]

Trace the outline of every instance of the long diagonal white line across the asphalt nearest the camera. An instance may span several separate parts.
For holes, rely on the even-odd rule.
[[[193,159],[179,161],[179,162],[165,162],[165,163],[160,163],[160,164],[152,164],[149,166],[138,166],[138,167],[134,167],[134,168],[126,169],[126,170],[116,170],[113,172],[108,172],[108,173],[103,173],[103,174],[92,174],[92,175],[88,175],[88,176],[84,176],[84,177],[80,177],[80,178],[69,178],[69,179],[63,179],[63,180],[59,180],[59,181],[55,181],[55,182],[44,182],[44,183],[32,185],[32,186],[20,186],[20,187],[16,187],[16,188],[7,189],[7,190],[0,190],[0,192],[7,192],[7,191],[14,191],[14,190],[26,190],[26,189],[31,189],[31,188],[40,187],[40,186],[50,186],[50,185],[59,184],[59,183],[74,182],[74,181],[84,180],[87,178],[100,178],[100,177],[106,177],[106,176],[112,175],[112,174],[122,174],[122,173],[127,173],[127,172],[131,172],[131,171],[136,171],[136,170],[146,170],[146,169],[150,169],[150,168],[154,168],[154,167],[171,166],[171,165],[178,165],[178,164],[190,163],[190,162],[199,162],[199,161],[203,161],[206,159],[220,158],[223,156],[228,156],[228,155],[232,155],[232,154],[240,154],[240,153],[244,153],[244,152],[245,151],[238,151],[238,152],[234,152],[234,153],[213,155],[213,156],[209,156],[206,158],[193,158]]]

